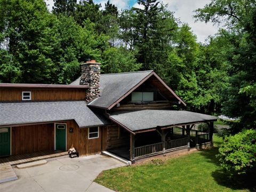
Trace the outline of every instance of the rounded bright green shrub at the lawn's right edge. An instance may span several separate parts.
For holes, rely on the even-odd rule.
[[[243,130],[225,137],[217,155],[221,166],[231,173],[243,174],[256,167],[256,130]]]

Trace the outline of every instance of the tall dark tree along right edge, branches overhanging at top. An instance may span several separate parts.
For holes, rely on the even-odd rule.
[[[227,19],[230,42],[233,43],[232,60],[230,62],[230,86],[224,91],[222,111],[230,117],[239,118],[237,131],[242,127],[255,127],[256,111],[253,107],[254,98],[251,97],[256,74],[255,68],[255,6],[249,1],[214,0],[203,9],[197,10],[196,18],[205,22],[218,23],[221,17]],[[234,32],[233,32],[234,31]],[[247,89],[249,87],[249,89]]]

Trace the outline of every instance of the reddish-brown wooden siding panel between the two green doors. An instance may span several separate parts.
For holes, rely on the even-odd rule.
[[[12,155],[54,149],[53,124],[12,127]]]

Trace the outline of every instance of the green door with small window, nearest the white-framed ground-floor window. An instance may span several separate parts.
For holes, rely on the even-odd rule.
[[[56,150],[66,150],[66,124],[55,124]]]

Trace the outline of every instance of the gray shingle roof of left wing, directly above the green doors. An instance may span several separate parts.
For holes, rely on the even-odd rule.
[[[79,127],[108,124],[85,101],[0,103],[0,126],[75,119]]]

